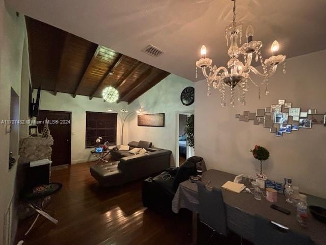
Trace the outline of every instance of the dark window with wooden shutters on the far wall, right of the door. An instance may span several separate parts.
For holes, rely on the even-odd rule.
[[[108,141],[117,144],[117,114],[105,112],[86,112],[86,148],[95,147],[97,137],[102,137],[100,145]]]

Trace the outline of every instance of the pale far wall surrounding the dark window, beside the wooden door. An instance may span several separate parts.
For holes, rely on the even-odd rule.
[[[37,90],[34,89],[33,97],[36,97]],[[108,109],[120,111],[127,109],[126,102],[108,103],[103,99],[93,98],[89,100],[88,96],[77,95],[75,98],[68,93],[53,95],[52,92],[42,90],[40,97],[40,110],[52,111],[70,111],[71,112],[71,163],[80,163],[94,160],[90,158],[91,148],[85,148],[86,133],[86,111],[108,112]],[[124,128],[124,138],[128,134],[128,126]],[[117,144],[121,143],[121,124],[117,123]]]

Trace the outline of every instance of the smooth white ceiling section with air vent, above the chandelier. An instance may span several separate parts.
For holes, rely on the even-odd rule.
[[[7,5],[192,81],[202,44],[214,64],[228,60],[224,29],[232,21],[231,0],[10,0]],[[275,39],[288,58],[326,49],[325,11],[324,0],[237,1],[243,34],[252,24],[264,58]],[[148,44],[165,54],[144,54]]]

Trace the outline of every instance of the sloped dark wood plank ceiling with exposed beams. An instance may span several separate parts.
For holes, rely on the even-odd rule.
[[[112,85],[130,104],[170,73],[26,17],[33,88],[102,97]]]

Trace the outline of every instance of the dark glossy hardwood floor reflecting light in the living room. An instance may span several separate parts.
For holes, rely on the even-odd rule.
[[[65,244],[191,244],[192,214],[155,213],[142,205],[142,181],[123,187],[102,188],[90,173],[93,162],[52,170],[51,181],[63,188],[47,207],[59,220],[54,225],[41,217],[23,237],[33,219],[19,224],[17,241],[26,245]],[[211,231],[200,225],[199,244],[207,244]],[[218,238],[220,239],[220,238]],[[216,237],[210,244],[218,242]],[[219,243],[221,244],[221,243]],[[240,244],[238,238],[225,244]]]

